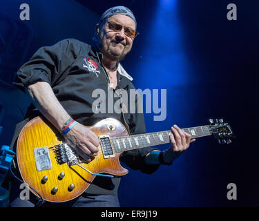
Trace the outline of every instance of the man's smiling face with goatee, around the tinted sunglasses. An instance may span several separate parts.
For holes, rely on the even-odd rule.
[[[135,30],[135,22],[126,15],[113,15],[101,27],[99,35],[99,48],[101,52],[112,61],[122,61],[124,56],[131,50],[133,38],[125,35],[124,28],[120,31],[111,30],[109,28],[109,21],[115,21],[124,28],[132,28],[133,30]]]

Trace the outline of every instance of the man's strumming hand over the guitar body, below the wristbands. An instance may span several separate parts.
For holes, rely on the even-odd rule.
[[[73,147],[87,162],[90,162],[93,157],[98,155],[99,138],[93,131],[82,124],[77,123],[68,131],[64,135],[64,140],[66,144]],[[89,158],[84,154],[87,154]]]

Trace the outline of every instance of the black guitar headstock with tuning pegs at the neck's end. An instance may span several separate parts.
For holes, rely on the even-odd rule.
[[[223,119],[209,119],[209,130],[215,138],[218,139],[220,144],[231,144],[231,139],[235,135],[228,122],[224,122]]]

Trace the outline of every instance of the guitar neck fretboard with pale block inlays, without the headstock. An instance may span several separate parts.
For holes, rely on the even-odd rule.
[[[182,129],[191,135],[191,138],[205,137],[211,135],[209,126],[196,126]],[[125,137],[113,137],[111,142],[115,153],[130,151],[137,148],[157,146],[170,143],[171,131],[160,131],[155,133],[144,133],[140,135],[129,135]]]

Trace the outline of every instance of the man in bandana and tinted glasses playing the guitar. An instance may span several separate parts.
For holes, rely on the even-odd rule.
[[[96,26],[93,46],[66,39],[54,46],[40,48],[17,73],[15,85],[28,93],[34,104],[22,125],[40,112],[60,131],[64,142],[73,146],[87,162],[98,155],[99,139],[86,125],[113,117],[128,127],[131,135],[146,133],[142,113],[93,112],[95,88],[106,91],[106,94],[108,90],[119,88],[134,89],[131,76],[119,61],[131,51],[137,36],[136,28],[133,12],[117,6],[102,15]],[[115,97],[113,99],[116,101]],[[122,153],[120,160],[143,173],[153,173],[160,164],[170,165],[194,141],[176,125],[171,131],[171,147],[166,151],[141,148]],[[119,206],[119,180],[119,177],[95,177],[93,184],[79,198],[62,204],[46,202],[43,206]],[[11,206],[29,206],[27,203],[19,198],[11,200]]]

